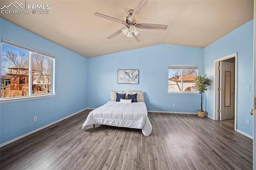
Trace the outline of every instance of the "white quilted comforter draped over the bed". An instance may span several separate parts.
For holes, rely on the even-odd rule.
[[[144,102],[128,104],[109,101],[89,113],[82,129],[86,125],[92,124],[140,128],[145,136],[150,135],[152,131],[147,107]]]

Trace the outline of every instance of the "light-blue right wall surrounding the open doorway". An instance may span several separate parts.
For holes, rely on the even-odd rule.
[[[253,117],[253,20],[204,48],[204,73],[214,75],[214,59],[237,52],[237,129],[252,136]],[[246,91],[250,86],[250,91]],[[205,93],[205,107],[213,117],[213,89]],[[246,125],[246,119],[250,125]]]

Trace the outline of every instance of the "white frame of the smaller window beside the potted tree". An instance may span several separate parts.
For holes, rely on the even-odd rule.
[[[174,70],[174,69],[179,69],[181,70],[181,91],[173,91],[173,92],[169,92],[169,72],[170,72],[170,69]],[[188,91],[183,91],[183,70],[188,70],[188,69],[196,69],[197,70],[197,73],[196,75],[198,74],[199,72],[199,69],[198,69],[198,65],[169,65],[168,67],[168,88],[167,88],[167,91],[168,91],[168,94],[192,94],[192,95],[198,95],[199,92],[198,91],[195,91],[195,92],[188,92]]]

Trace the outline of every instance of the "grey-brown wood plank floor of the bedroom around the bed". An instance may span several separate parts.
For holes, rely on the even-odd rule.
[[[106,125],[82,130],[90,111],[3,146],[0,169],[252,169],[252,139],[221,121],[148,113],[152,133],[143,136],[140,129]]]

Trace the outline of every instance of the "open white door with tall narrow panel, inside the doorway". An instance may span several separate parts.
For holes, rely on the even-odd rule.
[[[220,121],[234,118],[234,63],[220,61]]]

